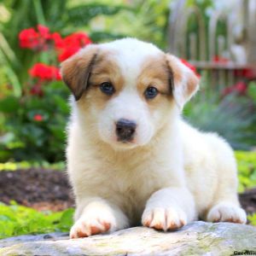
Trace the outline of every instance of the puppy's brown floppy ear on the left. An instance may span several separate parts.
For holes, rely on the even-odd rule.
[[[96,61],[97,46],[92,44],[61,63],[61,77],[79,101],[87,89],[91,69]]]

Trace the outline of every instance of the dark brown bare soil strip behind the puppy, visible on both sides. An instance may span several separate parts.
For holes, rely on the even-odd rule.
[[[45,169],[0,172],[0,201],[10,201],[38,211],[61,211],[74,207],[73,193],[67,174]],[[240,195],[247,213],[256,212],[256,188]]]

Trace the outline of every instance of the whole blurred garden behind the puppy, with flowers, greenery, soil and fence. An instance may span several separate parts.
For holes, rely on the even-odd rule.
[[[199,73],[201,91],[184,109],[184,118],[204,131],[217,131],[236,150],[241,204],[256,225],[256,61],[246,57],[244,46],[253,39],[240,16],[231,28],[224,19],[216,22],[212,42],[210,34],[214,13],[229,18],[231,8],[239,11],[239,4],[253,1],[222,2],[0,2],[0,238],[69,230],[73,195],[64,150],[70,93],[61,82],[60,62],[87,44],[124,37],[171,49]],[[180,33],[177,12],[193,9],[201,21],[196,12],[188,15]],[[256,32],[255,26],[250,29]],[[236,35],[232,45],[240,46],[233,55],[229,33]],[[199,43],[203,34],[209,41],[205,48]]]

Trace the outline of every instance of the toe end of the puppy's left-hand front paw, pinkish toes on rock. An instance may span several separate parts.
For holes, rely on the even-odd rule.
[[[73,224],[70,238],[79,238],[116,230],[116,220],[106,208],[90,208]]]

